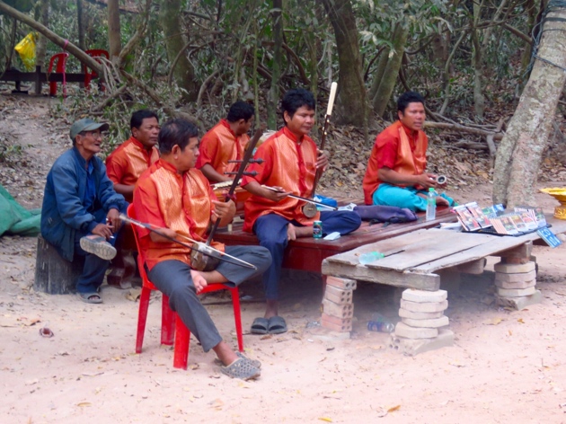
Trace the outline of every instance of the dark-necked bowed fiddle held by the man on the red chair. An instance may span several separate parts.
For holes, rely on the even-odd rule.
[[[226,195],[226,201],[229,201],[234,197],[234,190],[236,189],[236,187],[238,187],[240,179],[243,177],[243,175],[252,175],[252,176],[257,175],[257,172],[245,172],[245,168],[248,165],[248,163],[263,162],[261,159],[252,159],[253,150],[255,149],[258,140],[261,138],[262,133],[263,133],[263,128],[258,128],[253,134],[252,140],[250,140],[250,143],[248,143],[248,148],[246,149],[245,154],[243,155],[243,159],[240,163],[240,167],[238,168],[238,171],[235,172],[234,181],[232,181],[232,185],[230,186],[230,189],[228,190],[228,194]],[[212,226],[212,229],[208,234],[206,243],[194,241],[194,243],[197,244],[197,249],[193,249],[190,252],[190,266],[193,269],[197,269],[199,271],[209,271],[212,269],[216,269],[220,256],[222,254],[226,254],[224,252],[219,252],[217,251],[217,249],[214,249],[212,246],[210,246],[214,234],[216,234],[217,232],[218,224],[220,224],[220,219],[217,219],[214,225]]]

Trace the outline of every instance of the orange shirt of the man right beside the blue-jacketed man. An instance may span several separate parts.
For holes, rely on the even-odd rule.
[[[114,184],[136,185],[142,172],[157,159],[159,151],[156,147],[152,147],[150,155],[132,136],[106,158],[106,173]]]

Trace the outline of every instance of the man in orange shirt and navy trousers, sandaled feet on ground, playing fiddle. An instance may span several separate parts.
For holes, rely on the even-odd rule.
[[[257,150],[242,186],[252,193],[245,202],[243,230],[253,232],[261,246],[271,252],[273,262],[263,275],[267,306],[265,314],[255,319],[252,333],[278,334],[287,331],[287,323],[279,316],[278,288],[283,253],[290,240],[312,237],[313,222],[323,222],[323,234],[349,234],[358,229],[361,220],[355,212],[323,211],[307,217],[302,207],[305,201],[288,197],[292,193],[309,197],[313,192],[314,174],[328,164],[328,156],[316,148],[308,134],[314,126],[315,102],[312,93],[303,89],[289,90],[281,102],[285,127],[268,138]],[[278,188],[268,190],[262,185]]]

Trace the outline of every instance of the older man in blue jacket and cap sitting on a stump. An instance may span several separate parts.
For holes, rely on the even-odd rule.
[[[41,208],[41,235],[66,261],[84,256],[83,273],[76,282],[81,300],[101,304],[98,289],[121,226],[120,212],[128,203],[114,191],[106,167],[96,154],[101,151],[106,123],[79,119],[70,131],[73,147],[53,163],[45,184]]]

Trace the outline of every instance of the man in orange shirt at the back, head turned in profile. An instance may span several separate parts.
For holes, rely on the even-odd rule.
[[[232,181],[240,163],[228,161],[242,160],[243,150],[250,137],[247,132],[253,122],[253,106],[246,102],[235,102],[228,110],[226,119],[221,119],[200,140],[200,155],[197,169],[202,171],[210,182]]]

